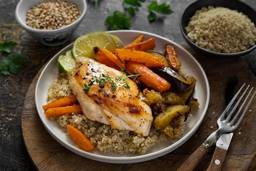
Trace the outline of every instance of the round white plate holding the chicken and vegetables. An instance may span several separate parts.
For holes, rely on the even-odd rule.
[[[210,98],[210,90],[209,84],[206,77],[206,74],[198,63],[198,61],[183,47],[172,42],[169,39],[164,37],[154,35],[152,33],[143,32],[143,31],[135,31],[135,30],[120,30],[120,31],[110,31],[113,35],[118,36],[123,40],[124,44],[129,44],[132,40],[139,35],[144,35],[144,39],[156,38],[156,51],[164,52],[166,44],[171,44],[174,46],[179,60],[182,63],[181,69],[187,75],[192,75],[196,78],[197,84],[196,89],[194,91],[193,97],[197,98],[200,107],[198,110],[194,111],[193,116],[190,117],[185,124],[184,133],[181,135],[181,138],[175,140],[173,143],[161,142],[157,143],[153,147],[149,149],[149,151],[144,155],[139,154],[115,154],[115,153],[102,153],[97,150],[92,153],[88,153],[83,151],[82,149],[75,146],[73,141],[69,136],[66,136],[65,131],[62,127],[60,127],[57,121],[52,121],[47,119],[44,114],[44,110],[42,108],[43,105],[47,103],[47,93],[48,87],[51,85],[52,81],[57,77],[57,59],[60,55],[65,54],[66,51],[70,50],[72,44],[66,46],[63,50],[58,52],[48,64],[46,64],[44,70],[42,71],[40,77],[38,78],[36,91],[35,91],[35,99],[36,99],[36,107],[39,114],[40,119],[43,122],[46,130],[51,134],[51,136],[57,140],[64,147],[70,149],[72,152],[82,155],[86,158],[102,161],[102,162],[110,162],[110,163],[134,163],[141,162],[146,160],[151,160],[158,158],[162,155],[172,152],[174,149],[183,145],[193,134],[196,132],[197,128],[201,124],[201,121],[204,119],[208,102]]]

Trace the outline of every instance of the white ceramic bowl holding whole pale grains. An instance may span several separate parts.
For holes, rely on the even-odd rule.
[[[87,4],[85,0],[69,0],[69,2],[77,4],[80,16],[75,22],[66,25],[63,28],[55,30],[33,29],[26,25],[26,11],[31,9],[32,6],[44,1],[45,0],[20,0],[16,6],[15,17],[22,28],[25,29],[26,32],[28,32],[31,36],[38,39],[39,42],[47,46],[58,46],[67,42],[71,33],[76,30],[79,24],[82,22],[86,13]]]

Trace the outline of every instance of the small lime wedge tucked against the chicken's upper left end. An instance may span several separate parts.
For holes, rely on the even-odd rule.
[[[71,51],[66,52],[71,54]],[[72,54],[71,54],[72,55]],[[57,67],[59,72],[70,74],[76,66],[76,60],[72,56],[61,55],[58,58]]]

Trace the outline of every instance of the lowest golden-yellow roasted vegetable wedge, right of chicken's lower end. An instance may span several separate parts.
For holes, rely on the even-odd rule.
[[[185,114],[190,111],[190,106],[186,105],[173,105],[166,107],[165,112],[160,113],[154,120],[154,127],[156,129],[165,128],[173,118],[178,117],[179,114]]]

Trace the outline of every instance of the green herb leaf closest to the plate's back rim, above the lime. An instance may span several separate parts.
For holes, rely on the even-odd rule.
[[[114,11],[106,18],[105,25],[109,30],[127,30],[130,29],[131,19],[126,17],[123,12]]]

